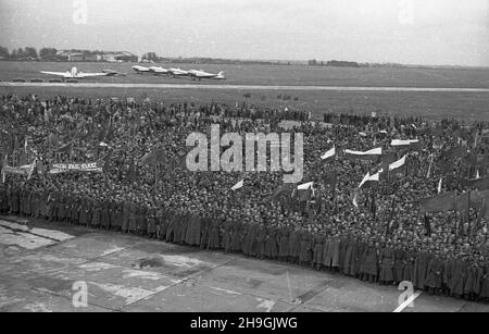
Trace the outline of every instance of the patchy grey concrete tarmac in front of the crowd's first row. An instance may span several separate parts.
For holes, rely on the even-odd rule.
[[[0,217],[0,312],[392,312],[401,293],[299,265]],[[401,311],[489,306],[421,294]]]

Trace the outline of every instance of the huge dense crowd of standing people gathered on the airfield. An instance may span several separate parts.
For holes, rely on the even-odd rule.
[[[468,163],[467,156],[452,157],[448,172],[448,160],[440,162],[453,147],[484,162],[484,123],[335,114],[313,122],[309,112],[246,104],[15,95],[3,96],[0,104],[3,164],[36,161],[28,176],[4,175],[4,214],[241,252],[386,285],[410,281],[419,289],[471,300],[489,298],[485,208],[423,213],[418,205],[440,190],[463,194],[469,189],[466,180],[486,176],[486,164]],[[294,125],[285,128],[285,120]],[[210,134],[211,124],[218,124],[221,134],[302,133],[303,182],[314,183],[313,195],[298,199],[291,187],[274,197],[283,185],[278,171],[189,171],[183,163],[189,150],[185,139],[192,132]],[[364,175],[383,162],[352,159],[343,149],[383,147],[383,157],[398,159],[390,141],[413,138],[421,146],[409,151],[402,169],[359,190]],[[322,160],[333,146],[336,157]],[[141,161],[156,149],[158,163]],[[95,161],[103,172],[50,173],[54,163]],[[326,182],[331,173],[335,182]],[[231,190],[240,180],[243,186]]]

